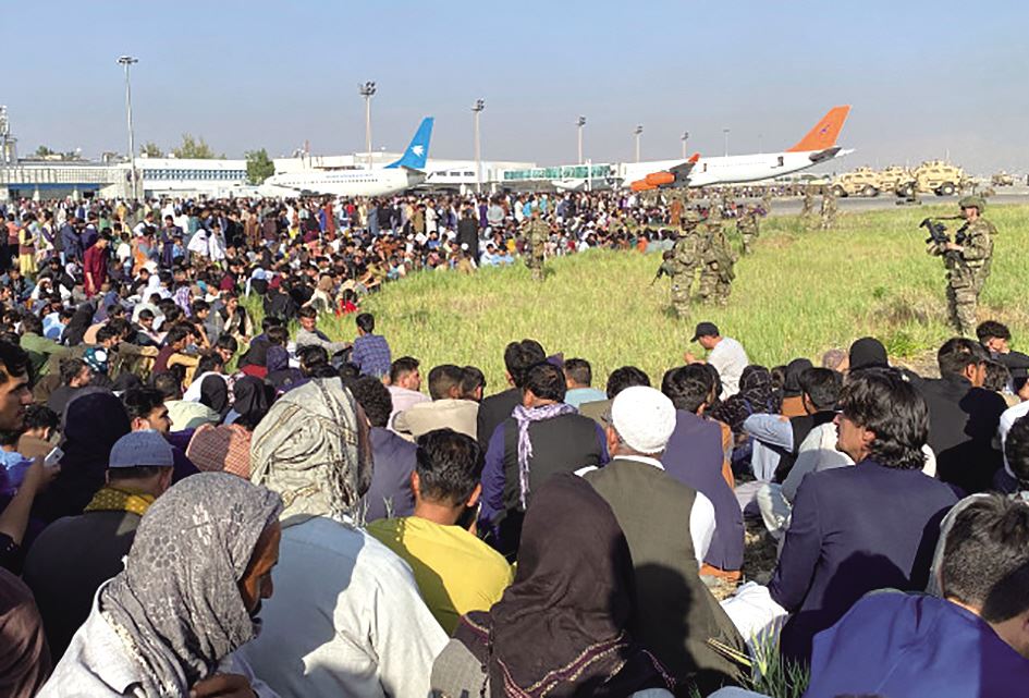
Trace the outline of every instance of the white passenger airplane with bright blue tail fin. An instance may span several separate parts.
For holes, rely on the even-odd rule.
[[[432,117],[411,139],[411,145],[396,162],[373,170],[313,169],[273,174],[265,180],[260,193],[268,196],[330,194],[333,196],[389,196],[425,182],[425,163],[432,137]]]

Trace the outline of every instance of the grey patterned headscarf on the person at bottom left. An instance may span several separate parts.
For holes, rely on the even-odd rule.
[[[147,696],[185,696],[255,636],[238,581],[282,500],[224,473],[200,473],[147,510],[124,572],[99,608],[144,670]]]

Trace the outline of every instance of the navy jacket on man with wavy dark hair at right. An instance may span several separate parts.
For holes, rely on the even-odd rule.
[[[793,614],[783,652],[808,659],[814,634],[869,591],[924,589],[940,522],[955,503],[950,487],[920,470],[869,460],[805,476],[769,583]]]

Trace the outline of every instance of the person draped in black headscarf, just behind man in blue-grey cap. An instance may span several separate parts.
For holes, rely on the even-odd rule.
[[[33,504],[33,518],[52,523],[82,514],[106,481],[114,442],[131,430],[122,401],[86,388],[68,404],[61,433],[61,472]]]

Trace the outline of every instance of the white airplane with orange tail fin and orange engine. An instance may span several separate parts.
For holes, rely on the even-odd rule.
[[[634,192],[679,186],[709,186],[760,182],[806,170],[854,152],[836,145],[849,105],[833,107],[793,147],[782,152],[757,152],[702,158],[695,152],[688,160],[633,162],[620,166],[623,186]]]

